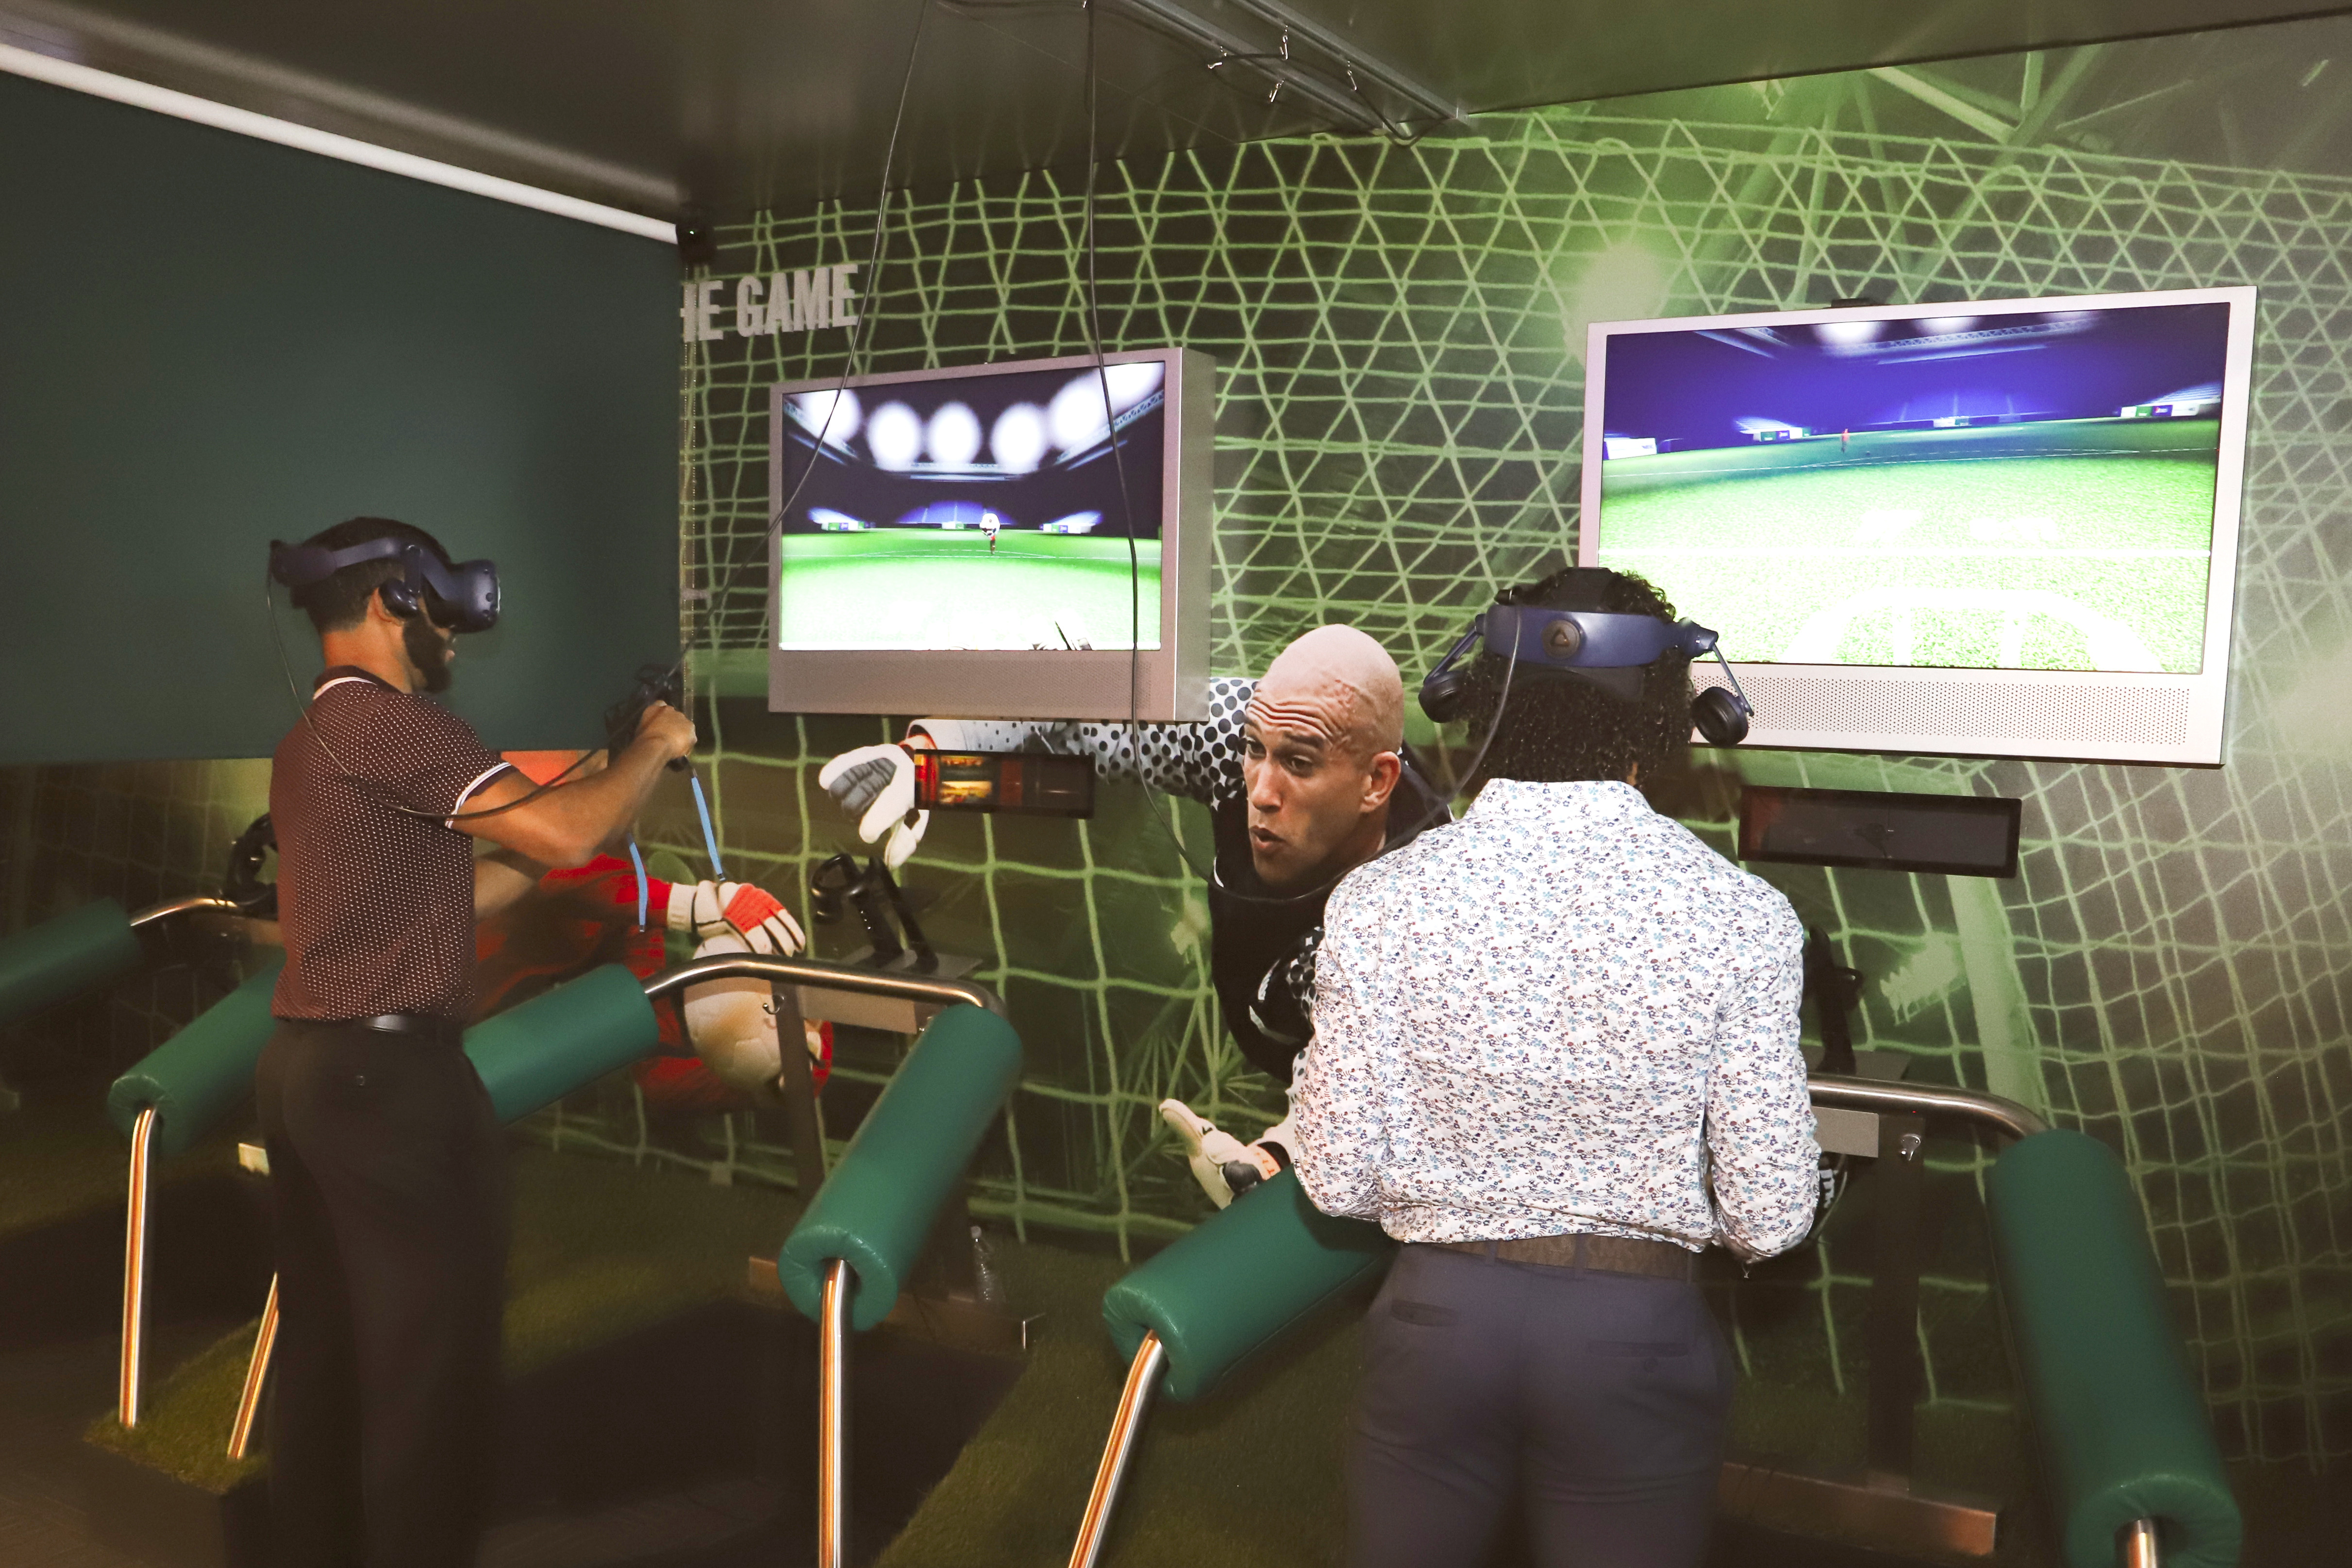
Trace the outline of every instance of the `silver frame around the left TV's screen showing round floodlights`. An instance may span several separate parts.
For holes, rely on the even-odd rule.
[[[1124,719],[1209,717],[1209,534],[1216,527],[1216,362],[1192,348],[1103,355],[1105,364],[1167,367],[1167,440],[1160,473],[1160,646],[1157,649],[779,649],[767,651],[769,712],[887,712],[943,719]],[[950,369],[781,381],[769,388],[767,512],[783,508],[786,400],[840,386],[974,381],[1023,371],[1091,369],[1094,355],[1009,360]],[[779,534],[767,529],[767,590],[776,599]],[[1155,614],[1145,604],[1143,614]],[[771,618],[774,625],[774,618]],[[1129,684],[1134,682],[1134,684]]]

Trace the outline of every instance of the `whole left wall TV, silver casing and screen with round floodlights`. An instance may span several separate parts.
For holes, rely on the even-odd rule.
[[[1214,374],[1152,348],[774,388],[769,710],[1209,717]]]

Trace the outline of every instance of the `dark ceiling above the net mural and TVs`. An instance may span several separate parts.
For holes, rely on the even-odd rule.
[[[2352,12],[2279,0],[1098,5],[1108,158],[1378,134],[1383,120],[1390,134],[1449,134],[1446,120],[1496,108]],[[0,0],[0,42],[666,219],[866,193],[884,158],[891,186],[1082,167],[1087,35],[1077,0]]]

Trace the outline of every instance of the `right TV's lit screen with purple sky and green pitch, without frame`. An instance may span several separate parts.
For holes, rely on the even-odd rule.
[[[2199,672],[2227,303],[1602,331],[1597,559],[1736,663]]]

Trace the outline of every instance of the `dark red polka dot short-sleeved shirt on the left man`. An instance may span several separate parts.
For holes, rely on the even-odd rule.
[[[430,698],[348,665],[318,677],[270,759],[278,1018],[466,1018],[473,839],[447,818],[506,766]]]

